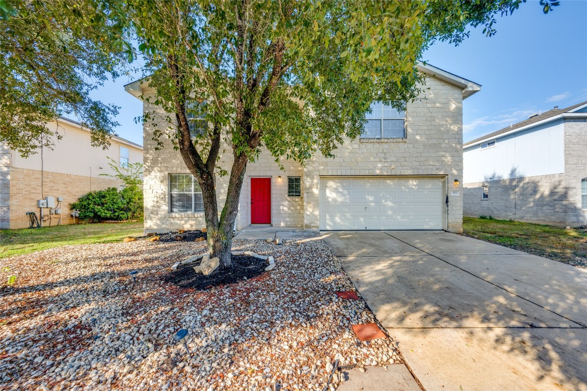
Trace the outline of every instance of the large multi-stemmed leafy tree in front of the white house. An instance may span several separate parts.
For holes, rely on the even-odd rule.
[[[129,0],[154,90],[143,98],[167,113],[143,120],[197,178],[211,256],[231,266],[245,170],[262,147],[276,161],[331,156],[360,135],[372,101],[403,108],[417,97],[416,62],[435,39],[458,43],[470,25],[492,35],[495,16],[520,3]],[[199,134],[190,134],[194,116],[208,124]],[[224,145],[230,172],[218,166]],[[217,174],[230,175],[220,216]]]

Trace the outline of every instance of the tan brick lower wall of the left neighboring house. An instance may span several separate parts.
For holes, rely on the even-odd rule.
[[[43,174],[43,193],[41,193],[41,174]],[[91,183],[90,183],[91,179]],[[63,197],[62,224],[73,223],[69,204],[91,190],[118,187],[120,181],[105,177],[90,178],[89,176],[60,174],[57,172],[43,172],[32,169],[12,168],[9,191],[9,219],[5,228],[26,228],[29,226],[29,217],[26,212],[35,212],[39,216],[37,200],[44,196]],[[4,205],[4,203],[2,203]],[[48,213],[49,209],[43,209]],[[59,216],[53,216],[52,225],[56,225]],[[76,219],[79,222],[79,219]],[[43,223],[48,226],[49,220]]]

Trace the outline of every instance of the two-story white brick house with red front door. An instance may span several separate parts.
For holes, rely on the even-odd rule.
[[[363,137],[346,140],[334,151],[335,158],[316,155],[305,166],[282,158],[281,171],[263,149],[247,167],[235,229],[270,224],[461,232],[463,99],[481,86],[430,65],[420,64],[419,70],[429,76],[420,98],[400,113],[374,104]],[[140,81],[125,88],[139,98],[153,93]],[[144,110],[157,107],[144,103]],[[193,131],[200,131],[197,118],[192,123]],[[158,125],[165,130],[166,124]],[[144,127],[146,232],[204,227],[197,181],[170,142],[155,149],[152,132],[151,126]],[[232,152],[228,146],[226,150]],[[230,171],[231,161],[227,152],[220,165]],[[217,178],[219,208],[227,185],[227,176]]]

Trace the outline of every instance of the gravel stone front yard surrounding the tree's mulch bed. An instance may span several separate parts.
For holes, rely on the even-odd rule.
[[[2,260],[2,390],[322,390],[339,368],[402,362],[322,240],[234,240],[275,268],[207,290],[164,281],[206,242],[80,244]],[[9,270],[9,271],[6,271]],[[136,283],[129,272],[137,270]],[[173,335],[187,328],[187,356]],[[335,373],[329,389],[342,380]]]

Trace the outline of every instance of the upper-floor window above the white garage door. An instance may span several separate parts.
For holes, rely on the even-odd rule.
[[[366,115],[367,123],[362,138],[404,138],[406,137],[406,112],[374,102],[371,113]]]

